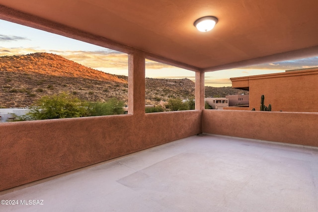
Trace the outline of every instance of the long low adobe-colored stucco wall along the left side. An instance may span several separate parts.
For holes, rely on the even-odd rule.
[[[0,191],[201,133],[201,111],[0,124]]]

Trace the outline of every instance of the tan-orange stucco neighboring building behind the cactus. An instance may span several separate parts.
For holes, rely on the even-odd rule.
[[[318,69],[231,78],[232,87],[249,86],[249,109],[260,108],[261,95],[272,111],[318,112]]]

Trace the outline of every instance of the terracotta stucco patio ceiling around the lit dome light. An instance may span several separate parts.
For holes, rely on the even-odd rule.
[[[318,55],[317,0],[0,0],[0,4],[192,70]],[[8,18],[9,13],[2,12],[0,18],[15,20]],[[199,32],[193,22],[206,15],[219,22],[212,31]]]

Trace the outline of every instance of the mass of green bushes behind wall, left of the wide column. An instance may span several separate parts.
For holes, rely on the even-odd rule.
[[[107,102],[84,102],[77,97],[60,93],[59,95],[43,96],[24,116],[16,116],[14,121],[75,118],[84,116],[103,116],[123,114],[124,101],[115,98]]]

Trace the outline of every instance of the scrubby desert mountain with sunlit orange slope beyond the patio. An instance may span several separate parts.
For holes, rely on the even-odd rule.
[[[65,91],[87,101],[116,97],[128,102],[128,77],[87,68],[61,56],[35,53],[0,57],[0,107],[26,107],[45,95]],[[224,95],[238,89],[206,87],[209,95]],[[234,89],[234,91],[233,91]],[[218,91],[217,91],[218,90]],[[217,92],[217,93],[216,93]],[[221,96],[220,95],[220,96]],[[146,104],[169,98],[194,96],[190,79],[146,78]]]

